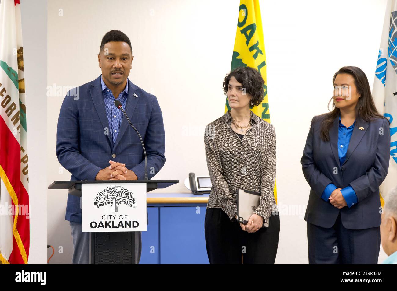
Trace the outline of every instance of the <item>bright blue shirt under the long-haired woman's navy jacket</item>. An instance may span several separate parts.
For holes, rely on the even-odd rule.
[[[346,127],[341,123],[341,116],[339,115],[339,131],[338,131],[338,156],[339,162],[342,165],[343,162],[346,160],[346,153],[347,148],[349,147],[351,135],[353,133],[354,125],[356,121],[354,121],[352,126]],[[321,198],[325,201],[329,201],[328,198],[330,197],[333,190],[337,189],[337,186],[330,183],[324,189],[324,192]],[[358,202],[356,192],[353,190],[352,186],[347,186],[341,190],[343,198],[345,198],[347,206],[350,208],[354,204]]]

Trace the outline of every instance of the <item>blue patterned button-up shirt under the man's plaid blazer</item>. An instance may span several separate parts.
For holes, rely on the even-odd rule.
[[[123,120],[123,112],[119,108],[114,105],[114,96],[112,90],[106,86],[106,84],[102,80],[102,75],[100,76],[100,82],[102,84],[102,96],[105,102],[106,108],[106,116],[108,116],[109,122],[109,131],[110,135],[112,136],[113,145],[116,143],[117,136],[119,134],[119,129],[121,126],[121,121]],[[123,109],[125,110],[125,105],[127,103],[127,96],[128,96],[128,79],[127,84],[125,84],[124,90],[119,94],[118,100],[123,105]]]

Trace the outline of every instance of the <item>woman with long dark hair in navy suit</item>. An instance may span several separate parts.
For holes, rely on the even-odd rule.
[[[376,264],[389,120],[376,110],[360,68],[339,69],[333,86],[333,110],[312,119],[301,159],[311,188],[304,217],[309,263]]]

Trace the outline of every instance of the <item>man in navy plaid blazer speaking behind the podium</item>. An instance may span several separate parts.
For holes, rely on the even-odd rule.
[[[111,30],[102,38],[99,67],[102,74],[65,97],[58,119],[56,154],[72,173],[71,180],[143,180],[145,156],[139,136],[116,108],[121,101],[131,123],[139,131],[147,154],[147,176],[151,179],[165,163],[165,133],[156,97],[127,77],[132,68],[129,38]],[[117,96],[117,97],[115,97]],[[89,263],[89,233],[81,232],[80,198],[67,199],[66,220],[73,236],[73,263]],[[136,232],[141,256],[141,232]]]

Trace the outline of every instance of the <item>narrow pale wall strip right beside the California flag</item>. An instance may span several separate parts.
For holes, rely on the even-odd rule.
[[[43,264],[47,262],[47,0],[20,3],[31,217],[28,262]]]

